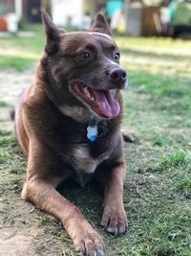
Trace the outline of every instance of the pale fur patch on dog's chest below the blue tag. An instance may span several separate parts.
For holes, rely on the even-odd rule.
[[[94,158],[86,145],[75,146],[72,166],[79,174],[93,174],[96,171],[96,167],[107,158],[109,158],[108,151],[104,151],[104,153],[101,153]]]

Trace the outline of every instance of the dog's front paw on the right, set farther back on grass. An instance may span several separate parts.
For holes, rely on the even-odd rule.
[[[115,236],[126,232],[127,217],[123,207],[106,205],[101,219],[104,229]]]

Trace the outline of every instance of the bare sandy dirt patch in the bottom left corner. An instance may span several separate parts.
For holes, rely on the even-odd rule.
[[[0,189],[0,256],[29,255],[39,228],[30,216],[32,204],[24,202],[11,187]],[[30,218],[29,218],[30,217]],[[30,220],[30,221],[29,221]]]

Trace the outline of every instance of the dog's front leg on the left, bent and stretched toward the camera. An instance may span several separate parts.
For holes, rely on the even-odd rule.
[[[47,159],[43,159],[45,155],[48,155]],[[39,156],[41,156],[40,161]],[[75,248],[84,255],[104,255],[105,247],[102,239],[80,210],[54,189],[57,181],[55,182],[53,175],[48,175],[50,170],[47,175],[43,175],[45,168],[53,168],[49,159],[53,161],[53,157],[47,151],[46,153],[35,151],[33,155],[29,154],[27,181],[22,198],[31,200],[37,207],[62,221],[64,228],[73,239]]]

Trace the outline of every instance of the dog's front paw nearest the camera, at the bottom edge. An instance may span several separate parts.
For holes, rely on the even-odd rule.
[[[105,254],[105,244],[95,230],[82,232],[76,236],[74,246],[85,256],[103,256]]]

